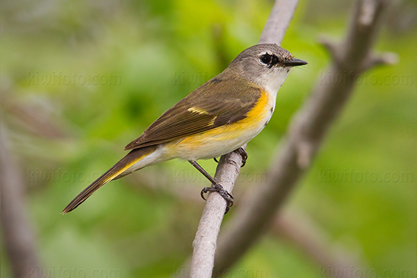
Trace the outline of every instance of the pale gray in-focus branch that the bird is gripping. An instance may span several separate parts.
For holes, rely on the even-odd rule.
[[[284,33],[293,17],[298,1],[277,0],[272,13],[265,25],[260,42],[281,44]],[[246,148],[246,145],[243,146]],[[235,152],[220,158],[215,172],[215,180],[231,193],[240,171],[242,158]],[[190,277],[211,277],[214,254],[220,225],[222,224],[226,202],[218,194],[208,195],[197,234],[193,243],[193,259],[191,260]]]

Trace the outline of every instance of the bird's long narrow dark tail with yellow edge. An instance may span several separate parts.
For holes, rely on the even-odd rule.
[[[143,147],[139,149],[133,149],[129,154],[124,156],[119,162],[117,162],[113,167],[111,167],[107,172],[101,175],[98,179],[93,181],[88,188],[85,188],[78,196],[76,196],[70,204],[68,204],[62,214],[69,213],[73,211],[77,206],[79,206],[82,202],[84,202],[88,197],[95,193],[95,191],[101,186],[104,186],[109,181],[113,181],[113,179],[119,179],[121,177],[126,176],[126,174],[130,174],[136,170],[141,169],[151,163],[145,163],[145,165],[139,165],[139,167],[135,167],[135,169],[131,171],[126,171],[129,167],[133,166],[134,164],[138,163],[142,158],[148,156],[152,152],[154,152],[156,146],[149,146]]]

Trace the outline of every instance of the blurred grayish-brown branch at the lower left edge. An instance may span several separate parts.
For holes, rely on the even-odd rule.
[[[0,188],[3,240],[13,277],[41,277],[38,271],[39,262],[35,252],[35,240],[25,213],[22,192],[24,181],[17,169],[16,161],[8,152],[5,132],[1,124]]]

